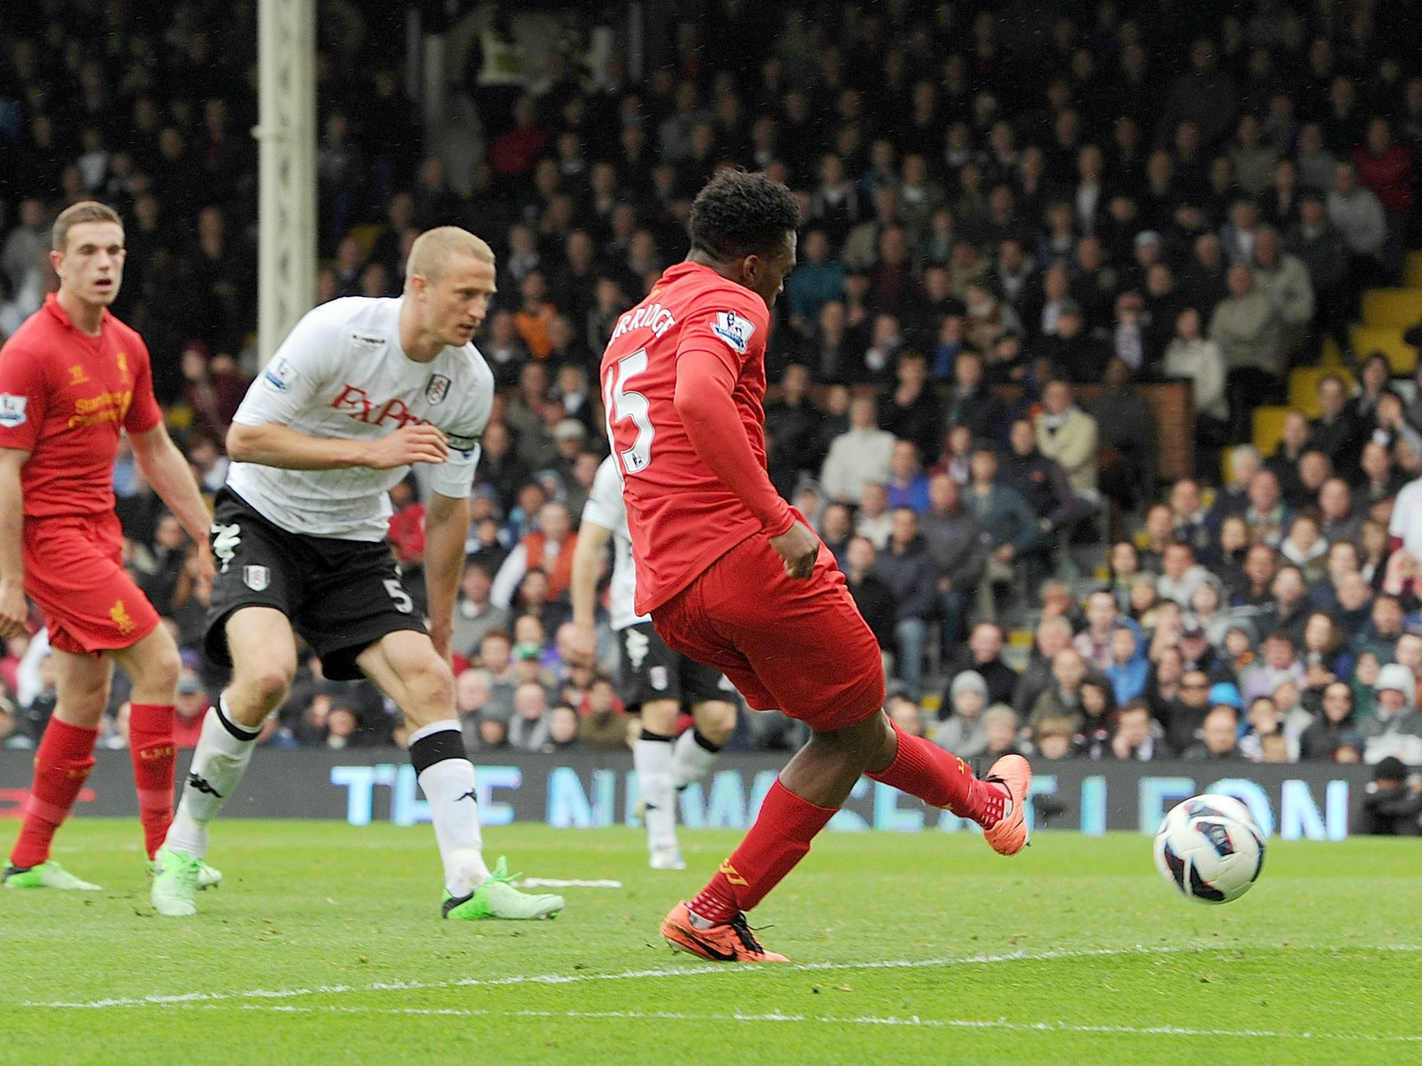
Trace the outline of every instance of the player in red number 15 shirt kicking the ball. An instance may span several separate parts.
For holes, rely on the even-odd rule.
[[[674,948],[708,959],[785,961],[745,911],[809,851],[862,773],[973,819],[1003,854],[1027,843],[1027,760],[1004,756],[980,779],[889,721],[879,644],[833,556],[766,475],[765,335],[798,222],[784,185],[718,173],[691,205],[687,260],[621,316],[602,364],[638,614],[752,708],[812,731],[745,840],[661,924]]]

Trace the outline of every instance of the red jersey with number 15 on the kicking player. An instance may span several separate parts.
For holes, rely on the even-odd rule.
[[[617,320],[602,362],[607,432],[623,475],[627,527],[637,566],[638,614],[687,587],[747,537],[791,524],[788,505],[765,473],[765,335],[769,314],[749,289],[710,267],[678,263],[647,298]],[[764,482],[757,516],[693,448],[675,409],[678,360],[711,355],[734,382],[739,424],[724,434],[749,438]],[[769,516],[769,517],[768,517]]]

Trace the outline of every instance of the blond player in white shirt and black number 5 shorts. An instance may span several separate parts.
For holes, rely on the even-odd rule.
[[[232,681],[208,711],[152,901],[196,912],[208,823],[242,779],[267,715],[286,699],[299,632],[328,678],[370,678],[404,712],[429,800],[447,918],[543,918],[562,897],[509,883],[482,853],[474,765],[454,702],[449,638],[469,530],[469,489],[493,375],[471,343],[495,291],[493,252],[455,226],[410,250],[404,294],[309,311],[252,384],[228,434],[208,654]],[[429,628],[414,614],[385,533],[390,488],[431,465],[425,526]]]

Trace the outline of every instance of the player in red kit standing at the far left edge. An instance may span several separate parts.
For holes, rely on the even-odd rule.
[[[198,543],[208,580],[212,559],[208,506],[164,428],[148,348],[108,313],[124,280],[118,215],[94,202],[67,208],[50,262],[58,293],[0,348],[0,637],[28,632],[28,593],[44,611],[58,689],[3,880],[97,890],[50,858],[50,841],[94,766],[115,662],[134,682],[129,750],[149,860],[173,809],[178,647],[124,573],[112,489],[119,431]]]

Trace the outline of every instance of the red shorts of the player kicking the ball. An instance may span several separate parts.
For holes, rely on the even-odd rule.
[[[769,537],[742,540],[651,621],[670,648],[720,669],[757,711],[830,732],[883,706],[879,642],[823,544],[813,574],[792,580]]]

